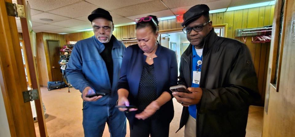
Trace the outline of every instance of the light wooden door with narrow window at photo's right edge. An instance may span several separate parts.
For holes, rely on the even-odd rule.
[[[295,136],[295,0],[276,0],[263,137]]]

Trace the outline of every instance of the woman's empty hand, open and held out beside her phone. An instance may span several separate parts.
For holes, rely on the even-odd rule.
[[[137,119],[145,120],[148,117],[151,117],[151,115],[154,114],[158,109],[160,109],[159,102],[153,101],[144,109],[143,112],[136,114],[135,117]]]

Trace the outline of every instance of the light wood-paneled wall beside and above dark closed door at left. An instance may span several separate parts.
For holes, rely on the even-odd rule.
[[[39,83],[42,87],[47,87],[47,82],[52,81],[52,72],[46,40],[59,40],[61,47],[66,44],[65,35],[47,32],[36,33],[37,70]]]

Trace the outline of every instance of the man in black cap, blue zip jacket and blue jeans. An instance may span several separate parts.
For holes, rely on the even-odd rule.
[[[85,137],[101,137],[105,123],[110,135],[125,137],[126,117],[116,106],[117,83],[125,46],[112,35],[112,16],[98,8],[88,16],[94,36],[78,41],[71,54],[66,74],[82,93]],[[104,93],[88,98],[86,95]]]

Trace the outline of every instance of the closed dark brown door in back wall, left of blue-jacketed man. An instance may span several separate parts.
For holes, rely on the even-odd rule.
[[[46,40],[48,45],[48,52],[49,52],[49,60],[50,60],[50,68],[51,68],[51,75],[52,80],[50,81],[61,81],[62,75],[60,70],[60,65],[58,63],[60,59],[60,45],[59,41],[57,40]]]

